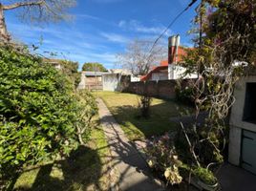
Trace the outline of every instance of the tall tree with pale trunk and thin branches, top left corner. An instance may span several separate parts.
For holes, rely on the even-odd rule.
[[[5,2],[5,1],[4,1]],[[17,10],[19,18],[29,22],[58,21],[67,18],[66,10],[75,5],[75,0],[12,0],[0,2],[0,40],[10,41],[5,11]]]

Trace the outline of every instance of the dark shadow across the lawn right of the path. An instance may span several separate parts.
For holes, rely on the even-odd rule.
[[[136,135],[140,132],[140,134],[142,133],[141,137],[151,138],[177,130],[178,125],[170,120],[171,117],[181,115],[181,110],[178,110],[177,107],[178,104],[169,101],[152,105],[149,118],[139,117],[139,108],[136,106],[117,106],[111,108],[111,111],[117,122],[126,128],[126,133]],[[136,128],[131,127],[131,124]]]

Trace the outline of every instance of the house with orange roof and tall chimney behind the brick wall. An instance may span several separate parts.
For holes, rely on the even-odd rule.
[[[141,77],[142,81],[147,80],[167,80],[179,78],[197,78],[197,74],[185,75],[186,69],[179,63],[183,62],[182,57],[186,55],[189,48],[180,47],[180,36],[174,35],[168,39],[168,60],[160,62],[160,66],[154,67],[149,74]]]

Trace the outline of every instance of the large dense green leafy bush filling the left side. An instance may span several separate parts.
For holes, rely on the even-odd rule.
[[[73,90],[65,75],[39,57],[0,48],[0,184],[24,165],[68,155],[79,143],[78,128],[88,135],[85,118],[96,108]]]

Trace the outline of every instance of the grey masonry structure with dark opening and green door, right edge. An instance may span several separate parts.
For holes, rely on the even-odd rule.
[[[228,160],[256,174],[256,73],[239,80],[234,96]]]

